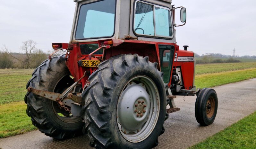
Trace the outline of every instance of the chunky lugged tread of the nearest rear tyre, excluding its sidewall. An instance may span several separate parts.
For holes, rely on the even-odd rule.
[[[118,71],[115,70],[116,66],[114,61],[115,63],[122,64],[122,67],[118,67]],[[82,110],[85,112],[82,112],[82,117],[86,123],[83,128],[83,133],[88,134],[90,137],[90,145],[92,147],[108,148],[113,144],[113,140],[111,140],[111,132],[108,131],[110,127],[108,120],[111,115],[108,110],[108,103],[111,100],[111,95],[113,95],[116,82],[124,75],[128,67],[133,67],[138,64],[150,65],[157,69],[157,63],[149,62],[149,57],[147,56],[142,58],[141,56],[138,56],[138,54],[124,54],[112,57],[100,63],[100,65],[98,65],[98,70],[89,77],[89,82],[92,83],[83,92],[82,97],[85,102],[90,102],[83,107]],[[104,74],[109,76],[108,78],[102,77],[103,68]],[[163,73],[158,71],[158,74],[163,77]],[[169,115],[166,113],[165,120],[168,116]],[[162,126],[160,135],[163,134],[164,131],[165,129]],[[158,140],[152,147],[157,145]]]

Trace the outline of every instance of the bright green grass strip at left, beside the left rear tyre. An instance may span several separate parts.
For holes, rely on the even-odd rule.
[[[24,101],[0,105],[0,138],[15,136],[37,129],[26,114]]]

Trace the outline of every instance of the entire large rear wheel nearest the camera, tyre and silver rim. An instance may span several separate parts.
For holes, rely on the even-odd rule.
[[[115,56],[90,75],[82,93],[83,132],[96,148],[145,149],[164,132],[166,88],[157,63],[137,54]],[[138,138],[140,137],[140,138]]]

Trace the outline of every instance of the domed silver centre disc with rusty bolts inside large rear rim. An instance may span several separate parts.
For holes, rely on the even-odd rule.
[[[143,104],[141,103],[143,101]],[[122,132],[129,133],[141,130],[142,125],[147,121],[146,103],[150,103],[149,94],[142,83],[129,83],[123,91],[118,109],[118,118],[122,126]],[[145,113],[143,111],[145,110]]]

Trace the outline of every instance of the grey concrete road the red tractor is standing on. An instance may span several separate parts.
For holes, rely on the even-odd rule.
[[[164,126],[166,132],[159,137],[161,148],[187,148],[237,122],[256,111],[256,78],[226,84],[214,88],[218,94],[218,113],[215,122],[207,127],[200,126],[194,116],[196,97],[186,101],[176,98],[181,111],[170,114]],[[0,139],[0,148],[90,148],[87,136],[57,141],[39,131]]]

